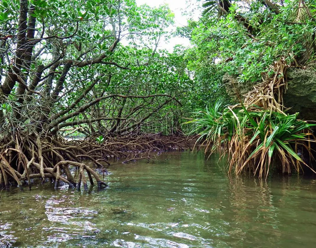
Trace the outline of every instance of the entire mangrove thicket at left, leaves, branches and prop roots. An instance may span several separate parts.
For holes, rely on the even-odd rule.
[[[0,37],[12,36],[0,40],[0,187],[21,187],[24,181],[31,187],[34,178],[42,183],[50,178],[55,188],[64,182],[86,189],[88,177],[90,184],[96,181],[101,188],[104,178],[83,160],[103,167],[110,159],[150,160],[153,151],[186,147],[180,138],[130,135],[181,132],[182,104],[174,96],[187,89],[184,82],[191,82],[185,75],[180,79],[174,64],[158,55],[165,31],[148,36],[150,43],[156,40],[153,50],[125,49],[120,44],[130,35],[128,30],[142,26],[134,21],[140,9],[132,11],[130,3],[114,1],[106,5],[111,15],[100,11],[91,18],[95,8],[79,1],[86,14],[78,20],[77,10],[68,3],[63,10],[67,17],[56,12],[59,4],[54,1],[12,4],[0,6],[9,19],[0,20]],[[161,13],[157,18],[162,26],[172,22],[167,9],[155,12]],[[160,25],[146,26],[153,33],[151,27]],[[147,35],[143,28],[139,31]],[[61,136],[69,129],[87,138],[65,140]],[[102,143],[95,139],[100,134],[106,136]]]

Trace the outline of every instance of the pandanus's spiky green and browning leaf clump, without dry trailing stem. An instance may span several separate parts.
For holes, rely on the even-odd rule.
[[[302,165],[310,167],[298,153],[299,148],[305,148],[313,159],[311,142],[315,136],[311,127],[316,124],[299,120],[298,113],[284,115],[229,106],[221,113],[220,106],[217,102],[195,112],[197,118],[189,122],[195,124],[192,132],[200,135],[197,142],[204,140],[205,152],[227,155],[229,172],[233,168],[236,174],[248,170],[262,177],[268,175],[271,164],[281,165],[284,173],[291,173],[292,167],[298,172]]]

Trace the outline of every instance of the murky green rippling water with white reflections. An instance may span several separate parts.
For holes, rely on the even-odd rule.
[[[111,166],[110,187],[2,193],[0,246],[315,247],[316,180],[229,178],[217,158]]]

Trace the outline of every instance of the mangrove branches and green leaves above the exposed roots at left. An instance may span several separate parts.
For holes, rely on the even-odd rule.
[[[2,1],[1,13],[2,134],[17,127],[56,134],[69,126],[115,134],[155,115],[180,115],[174,96],[191,80],[181,47],[158,49],[173,24],[166,5],[21,0]]]

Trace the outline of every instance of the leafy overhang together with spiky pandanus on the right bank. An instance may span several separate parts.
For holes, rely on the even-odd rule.
[[[187,56],[195,81],[214,88],[210,105],[189,122],[195,124],[192,132],[200,134],[206,151],[227,155],[229,171],[236,174],[267,176],[272,162],[284,173],[309,167],[314,124],[299,120],[298,113],[287,115],[282,94],[287,88],[286,68],[305,66],[315,58],[314,3],[207,0],[203,7],[200,21],[178,28],[194,44]],[[244,103],[232,82],[240,104],[226,105],[230,101],[222,83],[225,73],[238,76],[239,86],[257,82]]]

